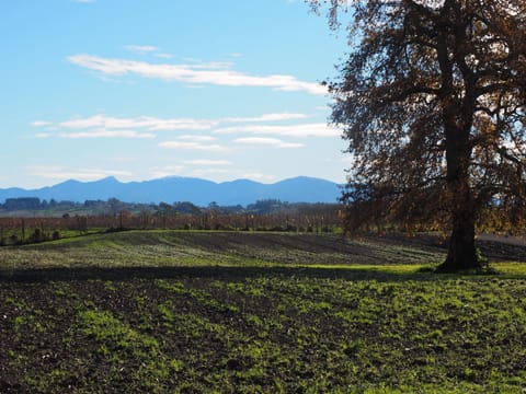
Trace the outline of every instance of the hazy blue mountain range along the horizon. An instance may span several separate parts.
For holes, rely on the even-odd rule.
[[[179,176],[123,183],[110,176],[94,182],[71,179],[38,189],[0,188],[0,201],[21,197],[76,202],[117,198],[126,202],[144,204],[190,201],[201,207],[211,201],[220,206],[247,206],[256,200],[270,198],[287,202],[336,202],[340,195],[340,186],[336,183],[307,176],[288,178],[274,184],[262,184],[249,179],[216,183]]]

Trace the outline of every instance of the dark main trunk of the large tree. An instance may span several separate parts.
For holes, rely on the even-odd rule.
[[[442,8],[441,24],[450,25],[451,15],[460,13],[456,1],[446,1]],[[459,21],[457,21],[459,22]],[[451,30],[439,30],[437,34],[437,60],[441,68],[441,94],[443,101],[443,125],[446,142],[447,188],[451,202],[453,232],[446,260],[437,271],[454,273],[481,268],[474,248],[474,218],[477,207],[470,186],[470,158],[472,144],[470,132],[473,125],[477,80],[466,65],[462,45],[466,43],[466,30],[457,24]],[[461,27],[461,28],[460,28]],[[451,48],[451,35],[456,47]],[[450,55],[454,55],[454,58]],[[455,65],[460,73],[456,71]],[[465,84],[464,94],[459,94],[455,76],[461,77]]]

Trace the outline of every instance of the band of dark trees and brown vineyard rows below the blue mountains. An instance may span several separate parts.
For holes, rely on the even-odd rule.
[[[259,200],[247,207],[210,202],[133,204],[103,200],[41,201],[10,198],[0,205],[0,246],[127,230],[341,231],[338,204]]]

